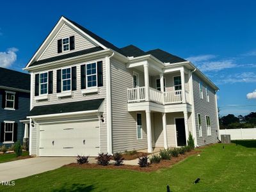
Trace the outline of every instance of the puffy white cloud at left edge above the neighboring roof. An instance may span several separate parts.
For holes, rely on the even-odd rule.
[[[17,51],[19,51],[17,48],[12,47],[6,52],[0,52],[0,67],[10,67],[17,60]]]

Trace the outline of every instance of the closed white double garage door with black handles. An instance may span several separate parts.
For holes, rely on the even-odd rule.
[[[39,156],[97,156],[99,121],[40,125]]]

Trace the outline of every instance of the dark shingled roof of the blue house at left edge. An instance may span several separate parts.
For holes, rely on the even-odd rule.
[[[0,86],[30,90],[30,75],[0,67]]]

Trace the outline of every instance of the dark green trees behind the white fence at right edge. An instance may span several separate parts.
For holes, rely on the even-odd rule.
[[[256,128],[256,112],[248,115],[228,114],[219,118],[220,129]]]

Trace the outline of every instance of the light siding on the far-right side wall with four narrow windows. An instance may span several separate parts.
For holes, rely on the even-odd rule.
[[[204,99],[201,99],[200,91],[199,91],[199,83],[200,83],[200,79],[195,74],[193,74],[193,93],[194,93],[193,97],[194,97],[194,107],[195,107],[196,138],[197,138],[197,144],[200,146],[200,145],[205,145],[209,143],[216,143],[217,141],[216,130],[218,130],[218,121],[217,121],[218,117],[216,115],[216,101],[215,101],[214,90],[208,86],[210,102],[207,102],[206,93],[205,93],[205,87],[207,86],[207,84],[205,84],[202,81]],[[201,115],[202,137],[199,137],[198,113],[200,113]],[[206,117],[205,117],[206,115],[210,116],[210,120],[211,120],[211,136],[207,136]]]

